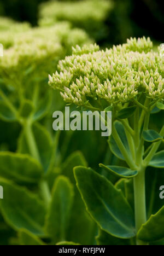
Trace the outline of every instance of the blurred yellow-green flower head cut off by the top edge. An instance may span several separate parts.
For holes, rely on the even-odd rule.
[[[80,2],[50,1],[40,7],[40,25],[52,25],[67,20],[75,26],[84,27],[86,22],[101,22],[106,19],[113,4],[109,0],[83,0]]]

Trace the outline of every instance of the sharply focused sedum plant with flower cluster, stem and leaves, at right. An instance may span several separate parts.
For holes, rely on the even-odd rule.
[[[49,76],[66,103],[112,110],[108,142],[120,166],[99,165],[108,179],[91,168],[74,168],[81,197],[99,227],[99,245],[147,245],[164,238],[164,208],[156,196],[164,181],[164,126],[150,127],[153,113],[163,114],[163,62],[163,46],[155,52],[150,38],[131,38],[106,50],[76,46]]]

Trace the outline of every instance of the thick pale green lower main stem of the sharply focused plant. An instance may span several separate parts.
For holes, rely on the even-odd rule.
[[[145,197],[145,167],[142,167],[138,176],[134,177],[134,206],[137,232],[142,224],[147,222],[146,197]],[[147,243],[137,240],[137,245]]]

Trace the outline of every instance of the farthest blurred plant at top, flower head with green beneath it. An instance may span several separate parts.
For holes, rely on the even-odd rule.
[[[40,5],[39,25],[50,26],[57,21],[69,21],[99,40],[106,34],[104,22],[112,9],[113,3],[107,0],[50,1]]]

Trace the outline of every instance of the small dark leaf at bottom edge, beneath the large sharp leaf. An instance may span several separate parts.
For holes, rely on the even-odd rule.
[[[120,239],[109,235],[107,232],[99,229],[98,236],[96,236],[97,245],[130,245],[130,240]]]

